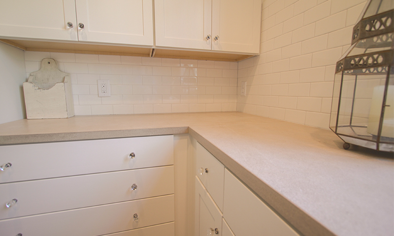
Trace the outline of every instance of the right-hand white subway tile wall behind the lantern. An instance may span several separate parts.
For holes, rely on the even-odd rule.
[[[239,62],[237,111],[328,128],[335,63],[365,2],[263,0],[261,54]]]

